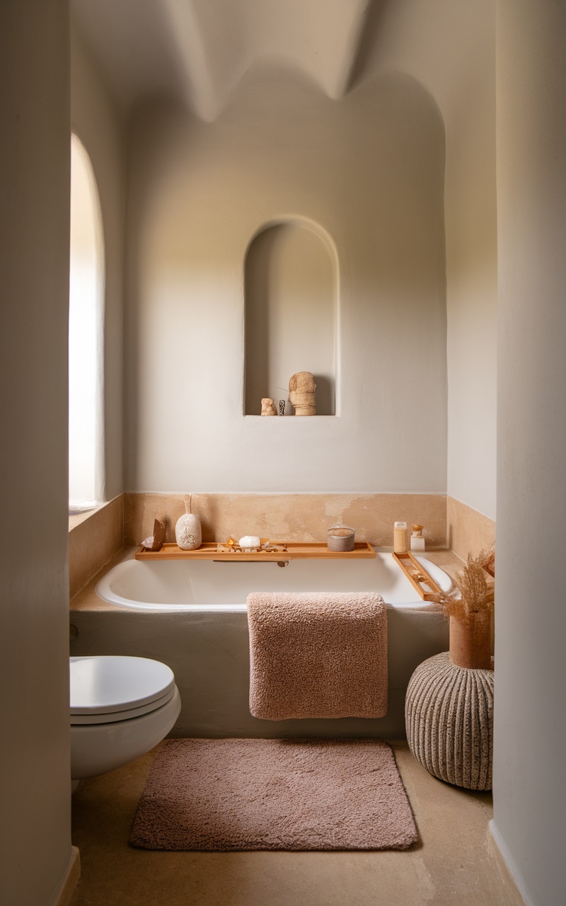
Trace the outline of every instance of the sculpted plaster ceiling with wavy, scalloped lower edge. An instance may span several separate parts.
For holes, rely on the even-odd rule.
[[[384,70],[413,75],[445,113],[481,61],[492,0],[72,0],[125,112],[167,95],[202,120],[245,72],[273,61],[330,98]]]

